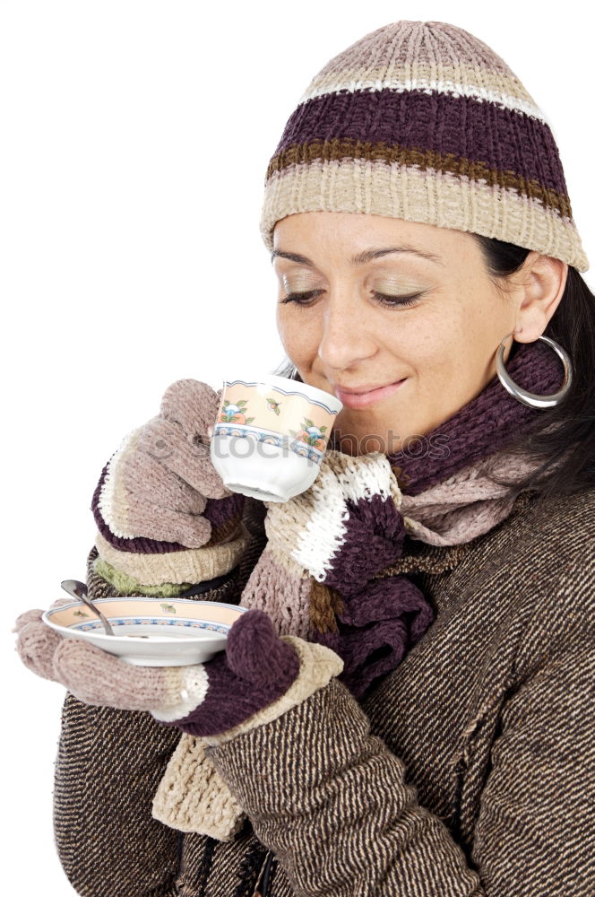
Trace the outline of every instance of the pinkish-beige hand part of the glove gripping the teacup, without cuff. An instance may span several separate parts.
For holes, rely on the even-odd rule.
[[[177,380],[165,391],[160,414],[128,433],[91,505],[110,544],[126,550],[122,541],[136,537],[188,548],[209,542],[207,499],[233,494],[211,463],[209,434],[219,404],[220,392],[207,383]],[[237,497],[228,503],[236,509]]]

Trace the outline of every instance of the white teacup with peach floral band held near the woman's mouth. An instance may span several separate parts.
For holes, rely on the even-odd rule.
[[[276,374],[225,379],[212,464],[231,492],[288,501],[314,483],[342,407],[331,393]]]

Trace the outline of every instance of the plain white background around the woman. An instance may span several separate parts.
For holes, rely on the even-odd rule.
[[[51,815],[65,690],[22,666],[13,620],[85,579],[101,468],[168,384],[283,361],[263,178],[319,69],[397,18],[470,30],[548,117],[595,258],[592,33],[578,2],[546,10],[0,2],[4,893],[74,893]]]

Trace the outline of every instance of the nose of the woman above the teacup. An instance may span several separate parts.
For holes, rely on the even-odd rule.
[[[323,333],[318,344],[318,357],[326,370],[357,367],[371,358],[376,342],[366,320],[366,309],[358,298],[332,295],[323,314]]]

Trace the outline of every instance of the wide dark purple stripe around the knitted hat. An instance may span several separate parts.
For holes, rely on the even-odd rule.
[[[548,124],[488,100],[436,91],[353,91],[307,100],[290,116],[273,160],[291,146],[346,137],[363,144],[430,150],[441,156],[451,153],[535,180],[567,197],[564,170]]]

